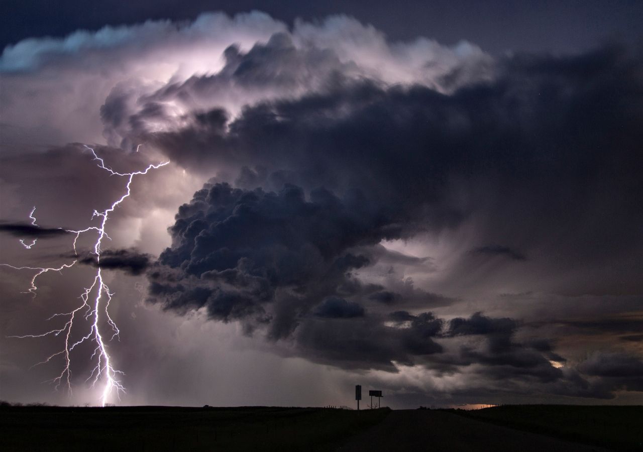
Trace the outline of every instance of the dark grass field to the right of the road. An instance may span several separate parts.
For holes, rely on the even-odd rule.
[[[453,412],[617,451],[643,451],[643,406],[507,405]]]

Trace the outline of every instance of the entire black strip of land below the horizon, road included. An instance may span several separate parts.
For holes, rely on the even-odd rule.
[[[643,451],[643,407],[0,409],[2,451]]]

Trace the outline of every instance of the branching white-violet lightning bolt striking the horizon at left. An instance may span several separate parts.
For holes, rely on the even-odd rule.
[[[145,170],[142,170],[142,171],[121,173],[121,172],[116,172],[111,168],[105,166],[104,159],[98,157],[93,148],[87,145],[85,147],[87,150],[89,150],[89,152],[91,152],[91,154],[94,157],[94,160],[98,161],[99,168],[102,168],[103,170],[109,172],[110,176],[125,177],[127,180],[127,182],[125,183],[125,193],[119,199],[114,201],[114,203],[111,204],[111,206],[109,206],[107,209],[101,212],[99,212],[98,210],[94,210],[91,216],[91,219],[92,220],[96,218],[100,219],[100,226],[89,226],[84,230],[66,230],[69,233],[75,234],[75,238],[73,240],[73,249],[74,249],[75,255],[77,256],[78,256],[78,251],[76,247],[80,236],[84,233],[89,233],[92,231],[93,233],[96,234],[96,240],[94,242],[93,251],[92,251],[93,255],[95,255],[95,258],[96,258],[96,275],[93,278],[93,282],[91,283],[91,285],[89,285],[89,287],[86,287],[84,289],[84,292],[80,294],[79,298],[82,303],[78,307],[76,307],[75,309],[69,312],[59,312],[57,314],[53,314],[53,316],[47,319],[47,320],[52,320],[53,318],[57,318],[57,317],[66,318],[66,323],[64,323],[64,325],[61,328],[52,329],[42,334],[25,334],[23,336],[10,336],[10,337],[44,338],[47,336],[62,335],[64,337],[64,348],[62,348],[62,350],[60,350],[59,352],[55,352],[51,356],[44,359],[44,361],[41,361],[40,363],[37,363],[34,366],[49,363],[51,359],[57,356],[62,356],[64,359],[64,366],[62,368],[62,372],[60,372],[60,374],[57,377],[51,379],[50,381],[52,383],[55,383],[55,389],[58,389],[61,384],[66,385],[69,393],[71,393],[71,356],[70,354],[74,350],[74,348],[78,347],[78,345],[82,343],[85,343],[85,342],[93,343],[94,351],[90,359],[94,360],[96,365],[91,371],[91,373],[89,374],[89,377],[87,377],[86,382],[91,381],[92,387],[95,387],[96,384],[98,384],[99,382],[102,382],[104,384],[101,392],[100,402],[102,406],[105,406],[105,403],[107,403],[110,395],[114,391],[116,391],[116,395],[119,398],[120,398],[120,393],[125,392],[125,387],[123,386],[122,382],[119,379],[119,375],[124,375],[124,374],[120,370],[116,370],[113,367],[111,356],[107,352],[107,345],[105,345],[106,341],[111,341],[114,338],[120,338],[119,337],[120,330],[118,330],[116,323],[114,323],[114,320],[109,315],[109,303],[111,303],[114,293],[112,293],[109,290],[109,287],[107,287],[107,284],[105,284],[103,280],[103,272],[102,272],[102,269],[100,268],[101,246],[105,238],[109,239],[109,235],[107,235],[107,231],[106,231],[107,221],[109,220],[109,214],[114,212],[114,210],[123,201],[125,201],[125,199],[129,197],[129,195],[131,195],[131,185],[132,185],[132,181],[134,180],[134,176],[143,176],[147,174],[150,170],[156,170],[158,168],[164,167],[165,165],[168,165],[168,163],[170,162],[165,161],[162,163],[158,163],[157,165],[149,165],[147,168],[145,168]],[[137,148],[137,152],[138,152],[138,148]],[[32,219],[32,224],[34,226],[38,226],[36,224],[36,219],[33,216],[34,212],[35,212],[35,207],[32,209],[32,212],[30,213],[29,217],[30,219]],[[20,242],[27,249],[31,249],[31,247],[35,244],[35,240],[33,240],[33,243],[30,245],[25,244],[23,240],[20,240]],[[11,267],[17,270],[35,271],[35,274],[33,275],[29,289],[26,292],[24,292],[24,293],[30,293],[35,297],[38,290],[38,287],[36,285],[36,280],[39,276],[43,275],[44,273],[48,273],[50,271],[57,271],[61,273],[62,270],[73,267],[75,264],[77,264],[77,262],[78,260],[74,260],[73,262],[71,262],[71,264],[63,264],[60,267],[16,267],[10,264],[0,264],[0,266]],[[91,323],[91,327],[89,329],[89,332],[87,332],[87,334],[82,336],[82,338],[76,341],[73,341],[71,339],[71,333],[73,330],[75,330],[74,321],[80,318],[81,316],[84,318],[84,320],[89,321],[89,323]],[[107,332],[104,331],[104,326],[102,326],[105,323],[109,325],[109,329],[107,330]]]

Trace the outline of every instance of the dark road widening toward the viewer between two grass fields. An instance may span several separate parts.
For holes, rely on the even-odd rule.
[[[496,426],[446,411],[396,410],[338,451],[603,452],[606,449]]]

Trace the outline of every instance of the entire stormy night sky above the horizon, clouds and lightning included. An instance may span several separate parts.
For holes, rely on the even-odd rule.
[[[642,3],[1,8],[0,399],[643,403]]]

